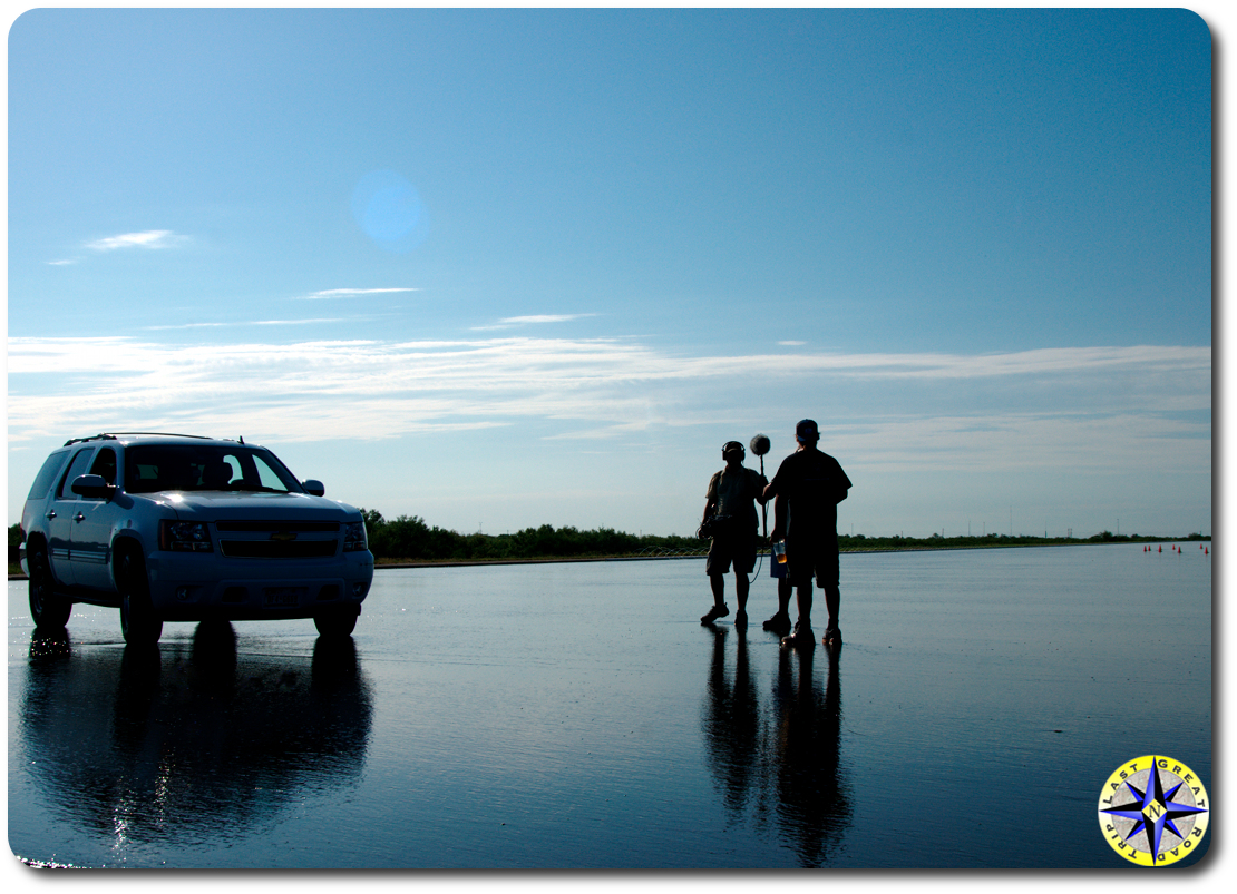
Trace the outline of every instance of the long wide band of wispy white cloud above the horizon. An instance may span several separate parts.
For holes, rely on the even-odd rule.
[[[54,390],[47,370],[61,373]],[[11,443],[118,425],[315,441],[529,423],[547,436],[616,441],[763,425],[807,406],[839,450],[891,469],[1211,462],[1210,347],[682,357],[614,338],[15,338],[9,372]]]

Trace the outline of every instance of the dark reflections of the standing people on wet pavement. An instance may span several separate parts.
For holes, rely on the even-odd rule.
[[[778,649],[773,689],[762,706],[745,632],[737,631],[730,673],[726,628],[711,633],[701,727],[726,810],[737,822],[751,807],[756,824],[772,825],[802,866],[825,866],[851,820],[850,785],[839,763],[840,650]]]

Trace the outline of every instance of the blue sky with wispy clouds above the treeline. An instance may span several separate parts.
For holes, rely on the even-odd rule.
[[[1211,35],[1159,10],[36,10],[9,517],[99,430],[461,532],[1211,530]],[[755,458],[748,465],[756,466]]]

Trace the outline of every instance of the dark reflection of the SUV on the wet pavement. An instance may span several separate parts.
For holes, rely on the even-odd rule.
[[[122,849],[240,837],[355,784],[371,715],[350,639],[319,639],[312,659],[238,655],[224,622],[189,643],[78,653],[64,631],[36,631],[20,730],[52,810]]]

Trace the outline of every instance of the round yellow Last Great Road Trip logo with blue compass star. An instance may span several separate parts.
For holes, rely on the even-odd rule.
[[[1147,756],[1113,772],[1100,791],[1100,828],[1138,866],[1168,866],[1194,851],[1211,819],[1207,790],[1180,760]]]

